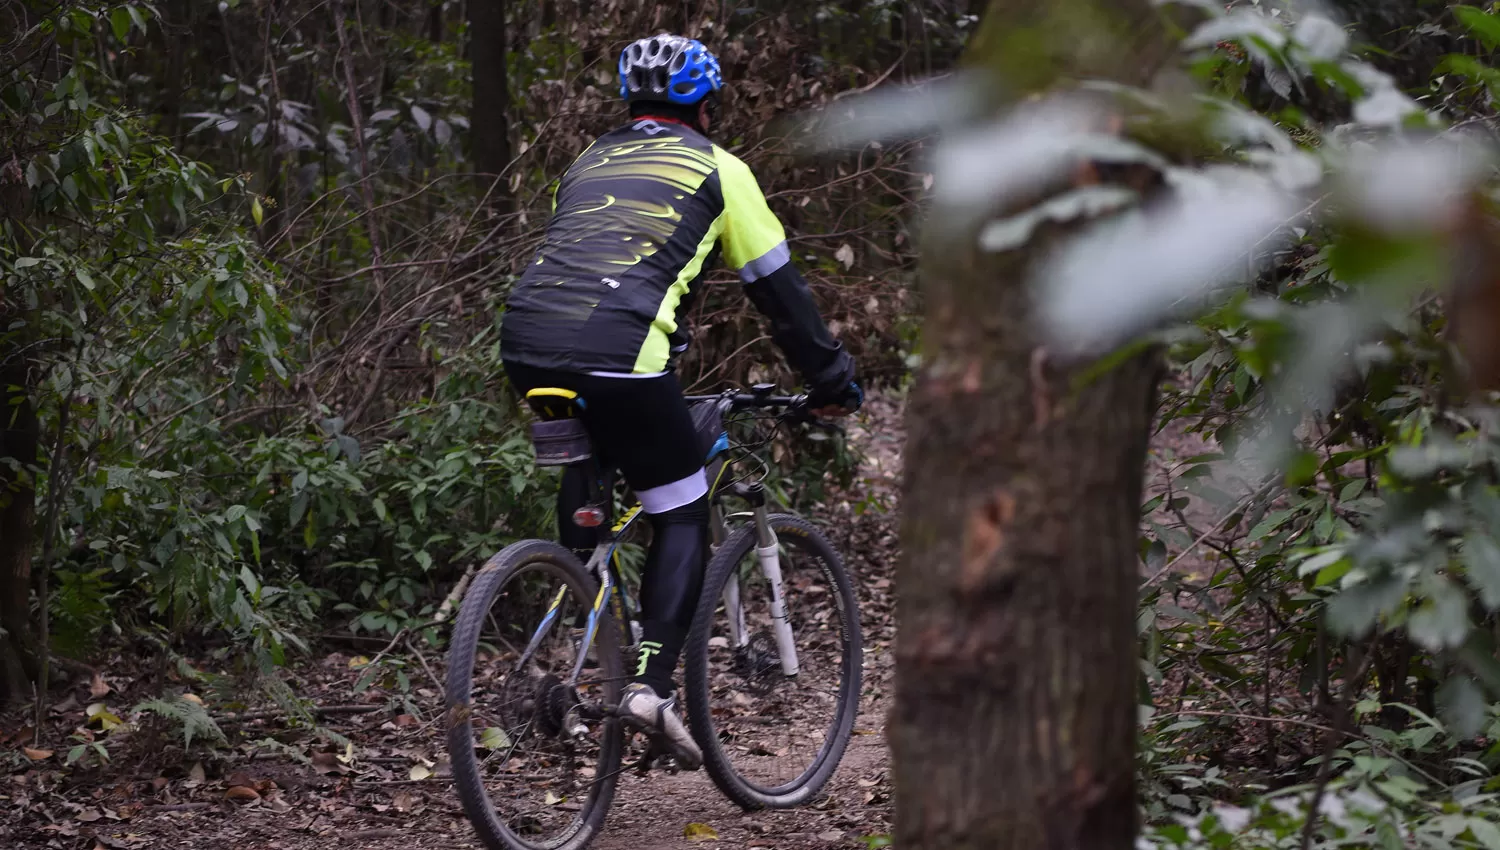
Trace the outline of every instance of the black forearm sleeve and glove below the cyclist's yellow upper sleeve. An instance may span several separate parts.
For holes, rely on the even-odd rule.
[[[744,285],[746,295],[771,319],[771,340],[812,388],[854,381],[854,357],[828,333],[807,282],[790,262]]]

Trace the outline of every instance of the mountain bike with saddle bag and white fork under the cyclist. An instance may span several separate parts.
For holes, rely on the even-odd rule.
[[[688,397],[712,537],[682,652],[687,723],[708,775],[744,810],[813,799],[860,703],[860,618],[843,562],[810,522],[771,510],[772,439],[816,424],[806,396],[774,391]],[[586,399],[537,388],[526,400],[537,463],[586,471],[573,522],[596,528],[597,544],[584,564],[558,543],[522,540],[476,573],[448,649],[448,751],[488,847],[578,850],[600,832],[622,771],[674,768],[650,738],[626,765],[628,729],[615,717],[639,642],[626,546],[650,523],[594,456],[578,415]],[[730,439],[730,424],[748,438]],[[616,502],[630,505],[618,519]]]

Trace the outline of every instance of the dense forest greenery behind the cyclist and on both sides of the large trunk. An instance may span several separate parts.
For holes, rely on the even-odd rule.
[[[88,714],[68,769],[102,769],[110,733],[147,715],[182,726],[188,750],[222,742],[180,696],[207,670],[296,708],[278,682],[312,648],[441,646],[436,615],[472,562],[548,532],[552,481],[500,372],[498,307],[552,181],[621,120],[614,67],[638,34],[717,51],[722,144],[756,171],[862,375],[900,399],[922,357],[933,139],[897,115],[903,141],[816,136],[879,123],[862,93],[951,75],[990,6],[8,3],[0,699],[38,712],[32,750],[6,756],[16,772],[51,759],[46,682],[87,684],[100,657],[156,664],[150,699]],[[1032,31],[1066,37],[1088,16],[1065,12],[1084,6]],[[1198,30],[1182,64],[1270,127],[1256,132],[1275,157],[1192,157],[1326,165],[1408,103],[1494,141],[1492,9],[1342,0],[1322,12],[1346,42],[1304,25],[1314,9],[1228,6],[1234,22]],[[1154,339],[1148,841],[1500,847],[1497,454],[1488,408],[1460,393],[1496,384],[1500,253],[1490,196],[1470,199],[1440,232],[1308,223],[1251,286]],[[1454,271],[1434,244],[1472,262]],[[1389,276],[1424,286],[1335,337],[1326,391],[1284,394],[1276,376]],[[732,276],[710,283],[686,384],[790,387]],[[1287,411],[1293,445],[1272,469],[1230,463]],[[858,469],[842,441],[784,450],[800,463],[780,486],[800,502]],[[406,672],[382,670],[423,711]]]

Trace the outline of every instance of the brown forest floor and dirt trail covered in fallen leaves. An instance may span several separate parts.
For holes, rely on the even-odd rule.
[[[873,396],[849,435],[864,454],[861,472],[849,492],[836,493],[814,516],[855,577],[866,640],[864,697],[854,739],[826,795],[800,810],[746,814],[702,771],[627,772],[594,843],[598,850],[861,847],[864,837],[890,831],[884,718],[894,675],[891,585],[904,442],[900,399]],[[1162,489],[1176,459],[1203,448],[1178,432],[1158,435],[1148,492]],[[1191,570],[1194,561],[1180,567]],[[327,652],[296,666],[285,673],[292,691],[326,709],[314,729],[302,730],[296,747],[268,744],[273,733],[286,739],[286,724],[274,708],[261,711],[274,706],[273,700],[255,700],[242,706],[238,720],[224,724],[234,745],[200,745],[189,753],[176,730],[132,732],[123,742],[117,733],[110,763],[90,766],[93,757],[86,756],[81,768],[64,768],[68,750],[81,742],[69,736],[105,723],[90,720],[99,708],[120,711],[164,690],[162,670],[111,673],[130,664],[106,666],[93,681],[75,682],[66,699],[54,700],[40,751],[26,750],[32,742],[27,718],[0,717],[0,771],[9,774],[0,784],[0,847],[480,847],[448,778],[436,712],[428,709],[441,705],[440,663],[434,657],[406,658],[412,714],[388,711],[392,694],[378,687],[357,694],[360,672],[352,654]],[[216,700],[210,696],[207,703],[213,711]]]

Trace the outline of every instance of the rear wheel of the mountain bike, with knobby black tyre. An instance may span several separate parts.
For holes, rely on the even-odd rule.
[[[598,585],[572,552],[512,544],[474,577],[448,649],[447,724],[464,813],[492,850],[579,850],[615,795],[624,682],[604,606],[594,664],[568,685]]]

